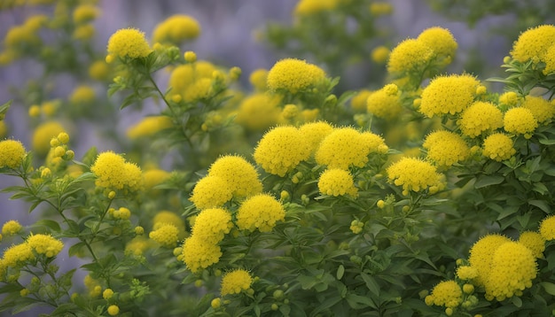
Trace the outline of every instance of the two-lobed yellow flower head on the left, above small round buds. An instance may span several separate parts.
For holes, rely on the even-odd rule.
[[[95,185],[111,190],[137,191],[143,189],[143,173],[141,168],[125,161],[121,155],[113,151],[98,154],[90,171],[97,176]]]

